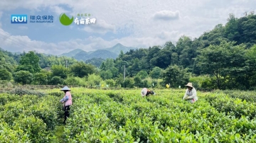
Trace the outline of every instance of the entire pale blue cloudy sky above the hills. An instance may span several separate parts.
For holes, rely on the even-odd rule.
[[[240,18],[255,9],[255,0],[1,0],[0,47],[53,55],[78,48],[88,52],[117,43],[148,48],[175,43],[181,35],[198,38],[219,23],[225,25],[229,13]],[[90,13],[96,23],[65,26],[59,21],[61,13]],[[12,14],[53,16],[54,20],[14,24]]]

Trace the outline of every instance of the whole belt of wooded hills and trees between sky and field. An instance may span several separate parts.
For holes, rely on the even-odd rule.
[[[117,44],[113,49],[118,50],[120,46]],[[148,87],[152,83],[177,87],[191,81],[198,88],[253,89],[256,84],[256,15],[249,13],[236,18],[230,14],[225,25],[215,25],[213,30],[203,33],[199,38],[191,39],[183,35],[176,45],[166,42],[161,46],[130,49],[127,52],[121,50],[116,59],[98,59],[99,55],[106,52],[102,50],[90,60],[86,58],[95,52],[77,52],[77,56],[83,52],[78,56],[80,60],[87,60],[87,63],[94,63],[99,68],[70,57],[34,55],[33,52],[14,55],[4,51],[0,52],[0,77],[6,79],[3,76],[8,74],[14,75],[15,79],[19,74],[24,75],[17,74],[18,71],[28,71],[27,75],[31,73],[38,77],[38,69],[50,67],[51,74],[41,75],[48,75],[48,81],[40,83],[60,84],[65,79],[78,84],[78,79],[67,79],[68,76],[82,78],[95,74],[87,77],[95,80],[90,85],[100,84],[102,78],[108,84],[122,87]],[[28,59],[33,59],[33,62]],[[34,64],[37,62],[39,67]],[[68,68],[65,68],[66,64]],[[146,78],[151,78],[151,81]],[[10,76],[7,79],[12,78]]]

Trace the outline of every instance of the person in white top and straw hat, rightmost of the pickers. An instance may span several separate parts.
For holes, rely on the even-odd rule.
[[[196,89],[192,86],[192,83],[188,83],[186,85],[186,93],[183,96],[183,100],[190,101],[191,103],[195,103],[198,101],[198,97],[196,96]]]

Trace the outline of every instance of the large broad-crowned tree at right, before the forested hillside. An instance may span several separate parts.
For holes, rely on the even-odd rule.
[[[238,74],[245,74],[245,47],[233,46],[233,44],[233,42],[223,41],[218,46],[210,45],[201,50],[201,55],[197,57],[201,70],[215,76],[215,85],[218,88],[224,88],[228,76],[235,78]],[[232,81],[230,80],[231,83]]]

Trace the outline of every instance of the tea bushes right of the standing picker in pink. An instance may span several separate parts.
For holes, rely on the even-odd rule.
[[[141,98],[139,91],[78,95],[79,108],[65,127],[65,142],[254,142],[252,103],[224,98],[220,108],[223,94],[198,91],[200,100],[191,104],[181,100],[181,90],[172,91],[171,98],[168,89],[149,98]],[[220,97],[211,98],[215,96]],[[226,113],[228,108],[234,112]]]

